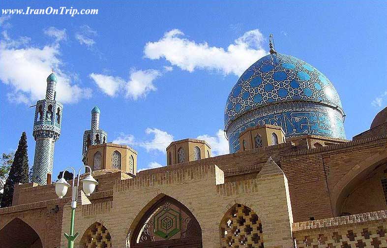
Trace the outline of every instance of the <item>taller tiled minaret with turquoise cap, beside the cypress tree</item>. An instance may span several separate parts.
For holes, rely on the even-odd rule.
[[[35,138],[32,181],[47,184],[47,174],[53,173],[54,147],[60,136],[63,105],[55,100],[57,77],[54,72],[47,78],[46,99],[36,102],[32,135]]]

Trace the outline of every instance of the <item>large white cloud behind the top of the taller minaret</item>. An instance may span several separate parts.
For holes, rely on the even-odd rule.
[[[30,38],[11,39],[2,32],[0,42],[0,80],[12,87],[8,99],[14,102],[31,103],[43,99],[46,93],[46,78],[51,68],[58,78],[57,100],[74,103],[89,98],[91,90],[71,84],[72,77],[61,69],[58,44],[38,48],[30,45]]]

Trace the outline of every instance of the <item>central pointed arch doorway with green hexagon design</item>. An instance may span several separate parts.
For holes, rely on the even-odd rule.
[[[202,248],[202,229],[179,201],[164,196],[134,229],[131,248]]]

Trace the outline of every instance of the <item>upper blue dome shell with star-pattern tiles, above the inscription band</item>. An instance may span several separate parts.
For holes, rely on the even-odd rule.
[[[293,56],[269,54],[252,64],[233,87],[225,126],[251,109],[294,100],[322,102],[342,110],[339,95],[323,73]]]

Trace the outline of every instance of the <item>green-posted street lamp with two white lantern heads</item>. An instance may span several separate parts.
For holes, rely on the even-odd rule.
[[[78,172],[78,181],[77,186],[74,186],[75,177],[72,180],[72,194],[71,194],[71,223],[70,223],[70,234],[64,233],[68,241],[68,248],[74,248],[74,240],[78,237],[79,232],[74,234],[74,218],[75,218],[75,209],[77,208],[77,198],[78,198],[78,187],[79,187],[79,177],[81,176],[81,170],[87,167],[90,170],[89,176],[85,179],[81,180],[83,184],[83,191],[87,196],[89,196],[95,189],[95,186],[98,185],[98,182],[91,176],[91,168],[88,165],[84,165],[79,169]],[[66,195],[67,189],[70,185],[64,180],[64,172],[67,169],[72,169],[75,175],[75,169],[73,167],[67,167],[63,170],[62,178],[60,178],[57,182],[55,182],[55,192],[57,193],[59,198],[63,198]]]

